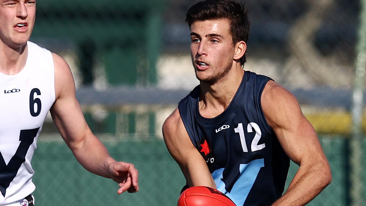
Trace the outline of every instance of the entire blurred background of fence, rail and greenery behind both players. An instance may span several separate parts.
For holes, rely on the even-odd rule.
[[[194,0],[37,1],[31,41],[66,59],[91,130],[139,169],[140,191],[117,195],[87,172],[50,116],[33,158],[37,205],[176,205],[185,180],[161,126],[197,84],[184,22]],[[247,0],[245,70],[289,89],[313,124],[332,183],[309,205],[366,205],[365,0]],[[291,163],[287,186],[298,166]],[[287,188],[286,186],[286,188]]]

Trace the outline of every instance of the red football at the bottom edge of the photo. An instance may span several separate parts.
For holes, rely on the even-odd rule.
[[[190,187],[178,199],[178,206],[235,206],[224,193],[210,187]]]

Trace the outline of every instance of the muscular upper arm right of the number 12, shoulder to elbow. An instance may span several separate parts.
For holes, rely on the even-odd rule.
[[[294,95],[269,81],[261,103],[269,125],[292,161],[300,165],[325,159],[315,130],[302,114]]]

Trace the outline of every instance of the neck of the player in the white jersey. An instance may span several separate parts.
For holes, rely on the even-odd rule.
[[[0,42],[0,72],[7,75],[18,74],[25,66],[27,56],[27,44],[12,48]]]

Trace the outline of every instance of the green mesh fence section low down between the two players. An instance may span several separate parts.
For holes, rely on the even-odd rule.
[[[60,137],[61,138],[61,137]],[[38,141],[32,161],[37,205],[174,205],[184,177],[162,140],[104,141],[111,156],[139,170],[140,191],[117,194],[112,180],[87,172],[63,141]]]

